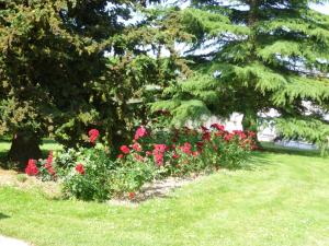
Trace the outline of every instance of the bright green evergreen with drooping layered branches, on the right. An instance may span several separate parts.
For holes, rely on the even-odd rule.
[[[256,130],[258,113],[275,108],[285,138],[328,143],[329,16],[310,2],[192,0],[170,17],[194,35],[185,51],[194,75],[167,89],[154,109],[178,120],[239,112]]]

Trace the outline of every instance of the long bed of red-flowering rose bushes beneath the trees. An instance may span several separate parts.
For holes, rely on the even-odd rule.
[[[238,168],[256,148],[254,132],[211,129],[147,129],[138,127],[131,144],[112,157],[111,148],[97,143],[99,131],[89,131],[91,148],[50,152],[47,160],[30,160],[26,174],[58,180],[65,197],[106,200],[134,199],[145,183],[168,176]]]

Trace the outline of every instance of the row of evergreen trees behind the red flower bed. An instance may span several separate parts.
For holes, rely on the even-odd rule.
[[[282,136],[328,144],[329,17],[310,2],[0,0],[9,157],[39,157],[48,136],[88,144],[93,127],[115,148],[159,109],[172,124],[239,112],[257,130],[275,108]]]

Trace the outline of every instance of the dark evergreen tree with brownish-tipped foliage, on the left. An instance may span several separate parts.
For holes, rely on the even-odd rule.
[[[22,167],[49,133],[76,145],[98,127],[117,142],[137,115],[128,101],[175,77],[174,57],[140,48],[172,44],[171,31],[147,28],[154,14],[124,24],[141,3],[0,0],[0,134],[13,136],[9,155]]]

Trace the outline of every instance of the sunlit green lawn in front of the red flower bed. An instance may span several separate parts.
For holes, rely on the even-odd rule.
[[[250,168],[136,208],[0,187],[0,234],[36,246],[329,245],[329,159],[263,152]]]

